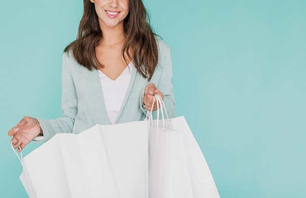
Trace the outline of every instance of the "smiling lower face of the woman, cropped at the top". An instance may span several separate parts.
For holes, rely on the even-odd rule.
[[[129,0],[90,0],[94,3],[99,23],[116,26],[129,14]],[[113,11],[108,13],[107,11]],[[103,25],[103,24],[101,24]]]

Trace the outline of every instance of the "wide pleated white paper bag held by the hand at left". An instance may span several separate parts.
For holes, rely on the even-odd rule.
[[[79,134],[57,133],[20,159],[20,179],[27,194],[30,198],[147,198],[148,127],[148,121],[136,121],[97,124]]]

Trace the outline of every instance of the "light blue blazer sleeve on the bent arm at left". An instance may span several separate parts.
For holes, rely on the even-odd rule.
[[[43,130],[43,135],[35,137],[32,141],[36,143],[46,142],[56,133],[71,133],[74,119],[78,112],[78,100],[76,88],[71,75],[71,67],[67,52],[62,57],[62,117],[56,119],[37,118]]]

